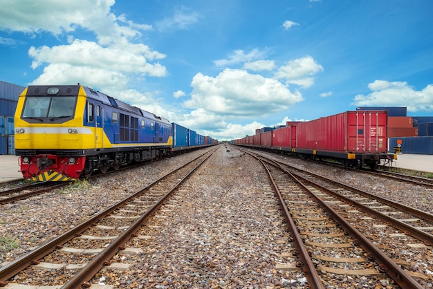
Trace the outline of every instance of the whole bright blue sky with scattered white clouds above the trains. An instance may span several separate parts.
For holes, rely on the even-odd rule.
[[[84,84],[230,140],[358,106],[433,115],[431,0],[1,0],[0,80]]]

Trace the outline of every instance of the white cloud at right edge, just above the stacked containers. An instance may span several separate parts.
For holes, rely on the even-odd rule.
[[[375,80],[368,85],[372,93],[356,95],[356,106],[407,106],[407,111],[433,111],[433,84],[416,91],[407,82]]]

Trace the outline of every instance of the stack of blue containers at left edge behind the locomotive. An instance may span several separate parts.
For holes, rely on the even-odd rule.
[[[14,115],[24,88],[0,81],[0,155],[15,154]]]

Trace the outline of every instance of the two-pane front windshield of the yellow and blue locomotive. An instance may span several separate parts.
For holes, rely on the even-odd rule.
[[[71,119],[74,115],[76,100],[77,97],[73,96],[28,96],[22,118],[35,118],[39,121],[49,118],[50,122],[62,118]]]

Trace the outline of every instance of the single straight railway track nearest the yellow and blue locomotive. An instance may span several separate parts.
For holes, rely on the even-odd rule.
[[[134,251],[133,248],[125,248],[125,243],[131,238],[140,238],[136,232],[147,218],[155,214],[163,203],[171,201],[170,198],[181,183],[212,153],[204,153],[52,241],[8,263],[0,268],[0,285],[6,288],[14,288],[17,283],[57,286],[55,288],[91,286],[88,281],[103,266],[118,265],[109,261],[114,254],[118,251]],[[42,278],[44,284],[33,283],[31,277],[35,272],[38,280],[41,274],[45,274],[46,277]]]

